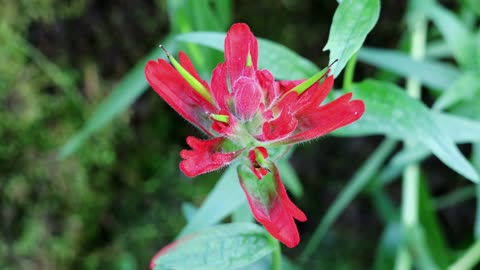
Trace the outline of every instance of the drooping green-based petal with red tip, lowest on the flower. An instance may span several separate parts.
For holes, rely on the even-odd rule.
[[[294,218],[306,221],[305,214],[288,198],[275,164],[259,181],[249,169],[239,168],[240,184],[255,219],[280,242],[292,248],[300,242]],[[274,189],[270,189],[273,187]]]

